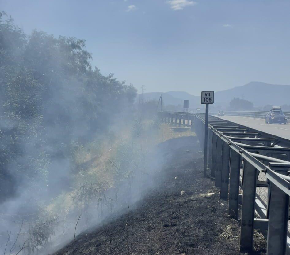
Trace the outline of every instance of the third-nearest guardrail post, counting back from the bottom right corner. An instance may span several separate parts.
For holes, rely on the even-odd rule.
[[[231,149],[230,157],[230,191],[228,215],[238,219],[238,194],[240,183],[240,163],[241,156],[239,153]]]

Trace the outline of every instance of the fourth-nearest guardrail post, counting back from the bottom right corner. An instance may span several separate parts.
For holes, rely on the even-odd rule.
[[[220,198],[227,200],[229,190],[230,146],[223,142]]]

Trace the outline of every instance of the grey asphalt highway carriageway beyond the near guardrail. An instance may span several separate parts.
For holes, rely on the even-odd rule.
[[[262,120],[262,119],[254,119],[250,117],[241,117],[241,116],[224,116],[220,118],[290,140],[290,124],[289,123],[286,125],[266,124],[265,120]]]

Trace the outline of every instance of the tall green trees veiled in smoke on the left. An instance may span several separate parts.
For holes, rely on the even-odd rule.
[[[106,131],[137,95],[91,67],[85,40],[25,35],[6,17],[0,13],[0,201],[17,186],[53,190],[73,163],[71,144]]]

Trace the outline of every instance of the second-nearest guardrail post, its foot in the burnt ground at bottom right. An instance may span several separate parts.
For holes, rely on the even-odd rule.
[[[257,169],[244,160],[240,251],[253,249]]]

